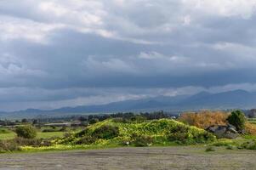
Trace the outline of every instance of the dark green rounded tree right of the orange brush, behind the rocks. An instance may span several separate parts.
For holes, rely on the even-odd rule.
[[[227,121],[235,126],[240,132],[245,128],[246,118],[242,111],[232,111],[231,115],[228,116]]]

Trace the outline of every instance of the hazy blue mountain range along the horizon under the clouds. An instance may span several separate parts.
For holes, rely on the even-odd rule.
[[[201,92],[194,95],[178,95],[174,97],[157,96],[147,99],[124,100],[107,105],[82,105],[63,107],[42,111],[28,109],[25,111],[1,112],[0,118],[37,117],[37,116],[70,116],[92,113],[111,113],[118,111],[196,111],[202,109],[251,109],[256,108],[256,93],[244,90],[211,94]]]

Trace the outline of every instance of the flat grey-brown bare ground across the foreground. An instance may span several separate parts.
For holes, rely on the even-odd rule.
[[[256,169],[256,151],[204,147],[117,148],[0,155],[0,169]]]

